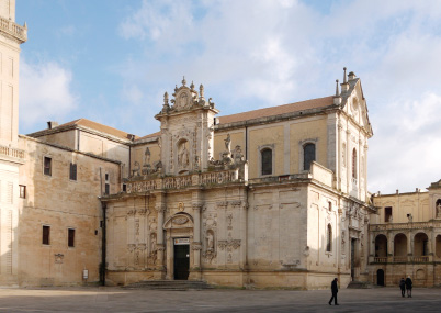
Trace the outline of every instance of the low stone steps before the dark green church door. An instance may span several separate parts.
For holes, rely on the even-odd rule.
[[[185,291],[185,290],[206,290],[213,289],[205,281],[199,280],[144,280],[123,287],[125,289],[147,289],[147,290],[169,290],[169,291]]]

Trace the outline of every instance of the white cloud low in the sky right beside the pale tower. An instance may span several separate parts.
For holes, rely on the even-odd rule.
[[[36,123],[63,119],[77,107],[72,74],[59,64],[30,64],[22,58],[20,77],[20,124],[25,132]]]

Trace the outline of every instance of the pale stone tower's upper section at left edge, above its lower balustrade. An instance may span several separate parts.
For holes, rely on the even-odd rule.
[[[0,0],[0,144],[15,146],[19,135],[20,45],[27,26],[15,23],[15,0]]]

